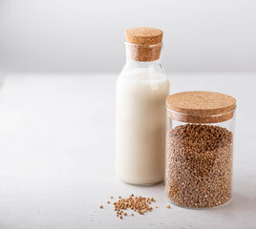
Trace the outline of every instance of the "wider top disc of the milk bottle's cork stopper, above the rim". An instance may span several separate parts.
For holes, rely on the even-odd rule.
[[[131,28],[125,31],[126,42],[140,45],[156,45],[162,41],[163,32],[155,28]]]

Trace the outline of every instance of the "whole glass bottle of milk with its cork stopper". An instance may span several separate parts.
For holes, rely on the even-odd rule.
[[[116,171],[120,180],[152,185],[164,177],[165,97],[162,31],[125,31],[126,63],[117,78]]]

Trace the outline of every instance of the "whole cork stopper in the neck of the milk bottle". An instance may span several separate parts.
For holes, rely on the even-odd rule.
[[[131,28],[125,31],[127,53],[136,61],[155,61],[160,58],[163,32],[154,28]]]

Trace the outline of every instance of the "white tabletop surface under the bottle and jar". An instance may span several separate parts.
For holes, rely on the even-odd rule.
[[[237,98],[233,198],[209,210],[166,209],[163,184],[137,187],[117,180],[116,77],[23,73],[5,78],[0,228],[256,228],[256,73],[170,75],[171,93],[209,90]],[[156,198],[159,209],[117,219],[107,201],[132,193]]]

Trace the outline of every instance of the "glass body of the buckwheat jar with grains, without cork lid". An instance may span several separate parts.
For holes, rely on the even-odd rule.
[[[167,108],[169,113],[176,112]],[[171,202],[209,208],[231,198],[235,111],[221,115],[230,119],[198,124],[167,115],[165,194]],[[214,120],[215,115],[211,116]],[[203,120],[204,116],[197,118]]]

